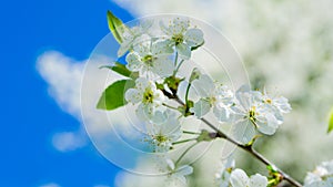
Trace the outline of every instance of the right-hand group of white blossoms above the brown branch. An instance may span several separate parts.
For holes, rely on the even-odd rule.
[[[193,87],[201,97],[190,110],[201,118],[211,108],[220,122],[234,124],[235,138],[249,143],[256,134],[272,135],[283,123],[283,114],[291,111],[287,100],[268,93],[240,87],[235,94],[226,85],[214,83],[208,75],[193,81]]]

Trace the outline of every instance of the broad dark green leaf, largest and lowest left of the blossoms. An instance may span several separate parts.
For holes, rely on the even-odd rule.
[[[124,93],[134,87],[135,82],[133,80],[121,80],[112,83],[100,97],[97,108],[112,111],[120,106],[125,105],[128,102],[124,100]]]

